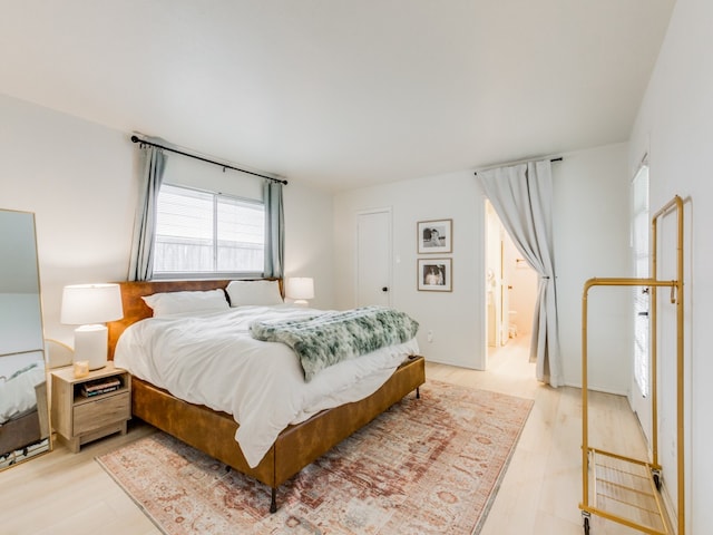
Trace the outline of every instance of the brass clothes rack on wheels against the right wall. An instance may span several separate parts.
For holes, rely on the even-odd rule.
[[[676,280],[657,278],[657,223],[672,211],[677,212]],[[657,289],[671,288],[676,305],[676,461],[677,535],[685,535],[684,493],[684,356],[683,356],[683,201],[675,196],[652,218],[652,269],[649,279],[589,279],[582,299],[582,516],[584,533],[589,534],[592,515],[602,516],[643,533],[671,534],[662,504],[658,463],[657,397]],[[652,460],[641,460],[589,447],[587,396],[587,294],[594,286],[641,286],[651,293],[651,374],[652,374]],[[652,291],[653,290],[653,291]],[[592,473],[592,474],[590,474]],[[592,499],[590,499],[592,497]]]

